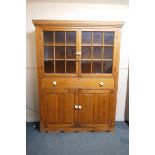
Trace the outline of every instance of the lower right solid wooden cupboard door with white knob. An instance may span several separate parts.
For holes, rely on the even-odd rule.
[[[109,122],[110,91],[79,90],[79,119],[81,127],[92,127]]]

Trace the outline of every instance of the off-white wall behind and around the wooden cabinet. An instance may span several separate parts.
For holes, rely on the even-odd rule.
[[[31,0],[32,1],[32,0]],[[38,110],[35,27],[32,19],[124,21],[122,29],[116,121],[124,121],[128,76],[128,5],[28,2],[26,14],[26,104]],[[38,121],[38,113],[27,109],[27,122]]]

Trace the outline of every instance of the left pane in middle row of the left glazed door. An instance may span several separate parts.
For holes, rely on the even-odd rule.
[[[53,46],[44,46],[44,59],[53,59],[54,51]]]

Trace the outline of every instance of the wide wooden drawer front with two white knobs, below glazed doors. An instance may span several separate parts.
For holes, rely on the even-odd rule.
[[[72,88],[72,89],[113,89],[114,79],[103,78],[43,78],[42,89],[45,88]]]

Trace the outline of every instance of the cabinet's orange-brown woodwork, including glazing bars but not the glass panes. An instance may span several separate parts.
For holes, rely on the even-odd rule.
[[[119,74],[119,51],[120,36],[123,22],[102,22],[102,21],[55,21],[55,20],[33,20],[36,31],[36,55],[38,70],[38,94],[40,107],[40,131],[113,131],[115,125],[118,74]],[[44,31],[53,31],[55,38],[56,31],[65,34],[64,43],[44,43]],[[66,32],[76,32],[76,43],[66,43]],[[92,32],[90,44],[83,45],[83,31]],[[93,42],[93,33],[113,32],[114,43],[96,44]],[[54,47],[53,58],[44,58],[44,46]],[[65,58],[55,58],[55,47],[65,47]],[[75,73],[66,73],[66,47],[75,46]],[[93,73],[91,59],[91,72],[82,73],[81,52],[82,46],[86,47],[113,47],[113,57],[104,59],[102,57],[95,61],[112,62],[111,73]],[[104,52],[104,51],[103,51]],[[56,60],[64,61],[65,72],[56,73]],[[71,59],[70,59],[71,60]],[[84,59],[83,59],[84,60]],[[45,73],[44,61],[53,61],[54,72]],[[102,70],[103,70],[102,62]]]

